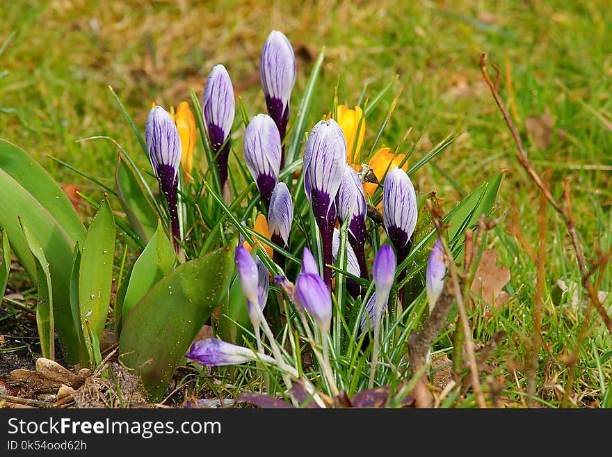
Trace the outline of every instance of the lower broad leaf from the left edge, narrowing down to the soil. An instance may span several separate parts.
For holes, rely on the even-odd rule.
[[[33,282],[36,282],[38,273],[19,225],[19,216],[26,221],[31,234],[40,243],[53,279],[54,320],[63,358],[68,364],[78,363],[81,361],[79,338],[72,322],[68,289],[74,240],[51,213],[3,169],[0,169],[0,189],[0,227],[6,230],[13,252]]]

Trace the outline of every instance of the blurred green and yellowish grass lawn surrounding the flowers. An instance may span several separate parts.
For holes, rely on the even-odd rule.
[[[487,246],[496,248],[499,264],[510,267],[512,278],[506,291],[511,298],[491,321],[483,321],[478,313],[472,317],[478,341],[486,342],[497,330],[508,332],[494,361],[497,374],[504,378],[504,394],[524,406],[536,264],[508,229],[516,218],[527,243],[537,250],[539,193],[515,159],[515,145],[481,77],[478,57],[484,52],[490,63],[501,67],[501,95],[517,116],[514,121],[530,159],[540,173],[549,173],[553,194],[561,195],[563,179],[570,179],[577,229],[587,259],[593,259],[598,250],[612,247],[609,4],[397,1],[323,2],[315,7],[291,1],[271,10],[258,2],[193,9],[186,4],[3,3],[0,136],[33,154],[58,181],[96,193],[86,179],[48,156],[81,170],[94,170],[92,174],[112,185],[116,159],[112,143],[77,143],[106,135],[128,150],[143,172],[148,170],[109,85],[144,131],[152,101],[176,106],[190,99],[189,88],[201,95],[211,67],[224,63],[248,115],[255,115],[265,110],[257,67],[261,45],[271,29],[282,30],[298,50],[295,109],[314,58],[321,47],[326,48],[309,125],[330,111],[335,86],[339,102],[352,105],[364,85],[372,96],[398,75],[367,119],[366,150],[401,88],[378,146],[399,147],[403,152],[422,133],[413,162],[449,134],[461,133],[434,161],[442,173],[431,165],[415,173],[412,180],[417,191],[436,191],[448,210],[460,199],[461,189],[469,191],[497,170],[508,169],[497,200],[500,224],[489,234]],[[543,114],[554,120],[546,148],[538,147],[525,123],[530,116]],[[408,140],[398,145],[408,129],[412,129]],[[239,153],[242,132],[238,128],[234,134],[234,149]],[[201,144],[195,154],[196,163],[204,165]],[[579,270],[561,218],[549,208],[547,221],[542,337],[550,354],[540,350],[536,394],[540,403],[556,407],[562,395],[554,385],[565,388],[564,356],[577,342],[586,294],[577,287]],[[610,264],[600,269],[599,290],[612,289],[611,273]],[[577,287],[576,310],[572,291],[558,299],[551,295],[559,279]],[[611,300],[604,302],[608,310]],[[611,337],[596,313],[588,328],[570,404],[609,406]],[[440,340],[440,346],[449,343]],[[248,382],[247,377],[241,379]],[[553,387],[545,385],[545,380]]]

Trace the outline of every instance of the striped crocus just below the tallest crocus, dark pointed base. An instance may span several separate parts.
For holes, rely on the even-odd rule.
[[[280,136],[274,121],[267,114],[256,115],[244,133],[244,160],[266,209],[278,182],[280,155]]]

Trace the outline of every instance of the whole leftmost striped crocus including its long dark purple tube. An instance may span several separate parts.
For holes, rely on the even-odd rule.
[[[145,138],[151,166],[163,195],[168,202],[170,230],[178,253],[180,247],[179,213],[177,207],[178,172],[181,166],[181,138],[177,125],[161,106],[154,106],[147,116]]]

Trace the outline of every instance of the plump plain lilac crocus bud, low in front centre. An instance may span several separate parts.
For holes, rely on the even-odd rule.
[[[296,292],[300,305],[312,316],[321,334],[325,335],[332,323],[332,298],[321,276],[300,273],[296,281]]]

